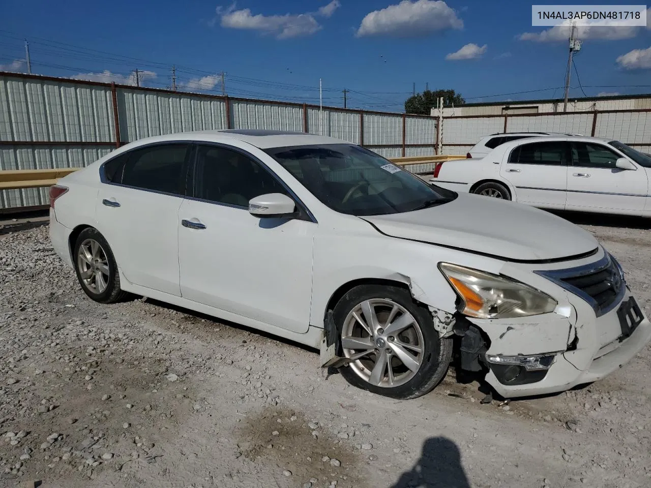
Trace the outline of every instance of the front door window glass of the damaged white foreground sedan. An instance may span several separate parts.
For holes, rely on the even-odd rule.
[[[195,197],[211,202],[248,208],[251,198],[266,193],[288,195],[283,185],[256,161],[219,146],[199,146],[197,176]]]

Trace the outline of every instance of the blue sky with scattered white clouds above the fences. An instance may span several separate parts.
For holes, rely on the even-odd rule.
[[[225,72],[231,96],[308,103],[321,77],[324,105],[342,106],[348,88],[348,107],[387,111],[402,111],[414,82],[467,102],[560,97],[567,62],[567,33],[532,27],[522,1],[4,0],[2,10],[5,70],[25,70],[27,38],[38,74],[133,83],[137,68],[144,85],[169,87],[176,64],[179,88],[221,93]],[[651,85],[650,27],[579,30],[588,96],[651,92],[634,86]],[[583,96],[578,86],[573,71],[570,96]]]

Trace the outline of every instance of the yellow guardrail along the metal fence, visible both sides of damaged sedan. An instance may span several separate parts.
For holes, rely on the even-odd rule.
[[[465,159],[465,156],[450,156],[436,154],[432,156],[392,157],[391,161],[398,166],[419,163],[437,163],[452,159]],[[59,178],[77,171],[81,168],[55,168],[55,169],[20,169],[0,171],[0,190],[15,190],[23,188],[40,188],[55,185]]]

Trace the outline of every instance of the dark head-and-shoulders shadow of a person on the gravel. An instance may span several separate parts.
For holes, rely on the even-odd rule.
[[[391,488],[471,488],[459,448],[445,437],[430,437],[422,445],[421,459]]]

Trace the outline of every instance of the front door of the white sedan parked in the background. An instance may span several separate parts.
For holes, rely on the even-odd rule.
[[[648,181],[644,168],[619,169],[620,154],[597,142],[572,142],[568,170],[568,210],[621,211],[641,215]]]

